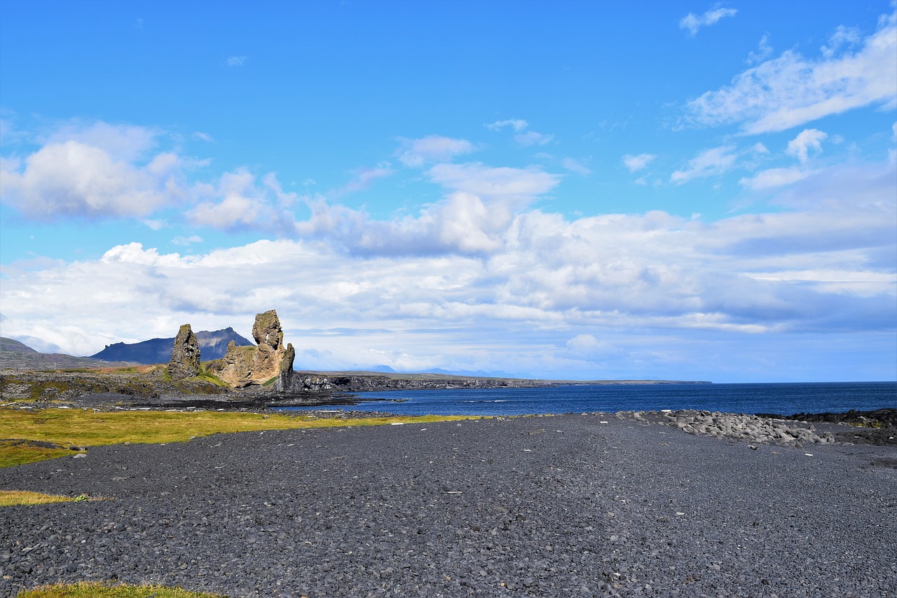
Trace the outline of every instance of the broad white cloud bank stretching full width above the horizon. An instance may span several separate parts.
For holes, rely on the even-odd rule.
[[[640,359],[654,367],[652,350],[672,355],[704,332],[728,335],[716,337],[728,347],[752,335],[764,346],[788,333],[893,335],[895,169],[811,174],[793,185],[803,207],[715,223],[665,212],[568,220],[524,209],[497,226],[492,202],[504,195],[449,188],[443,202],[405,221],[346,224],[350,214],[335,222],[334,230],[356,226],[344,229],[347,238],[456,251],[381,245],[347,254],[318,238],[185,256],[128,243],[101,259],[4,272],[0,326],[4,336],[91,354],[109,342],[169,336],[183,321],[248,328],[254,313],[276,307],[300,354],[317,351],[309,359],[329,369],[454,364],[543,375],[618,355],[627,367]],[[621,339],[615,330],[637,334]],[[639,336],[653,349],[638,347]],[[875,344],[874,334],[864,339]],[[561,361],[544,363],[546,346]],[[893,347],[884,349],[893,357]]]

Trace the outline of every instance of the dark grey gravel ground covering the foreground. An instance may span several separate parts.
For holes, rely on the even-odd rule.
[[[807,454],[812,453],[812,456]],[[213,435],[0,469],[0,596],[897,595],[897,450],[582,414]]]

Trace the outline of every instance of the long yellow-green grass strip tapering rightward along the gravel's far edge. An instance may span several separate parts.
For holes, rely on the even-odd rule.
[[[92,409],[0,408],[0,429],[21,440],[40,440],[64,446],[157,444],[187,442],[190,438],[231,432],[286,430],[300,427],[376,426],[470,419],[464,416],[388,418],[318,418],[313,414],[239,413],[233,411],[93,411]],[[21,443],[0,444],[4,467],[72,454]]]

